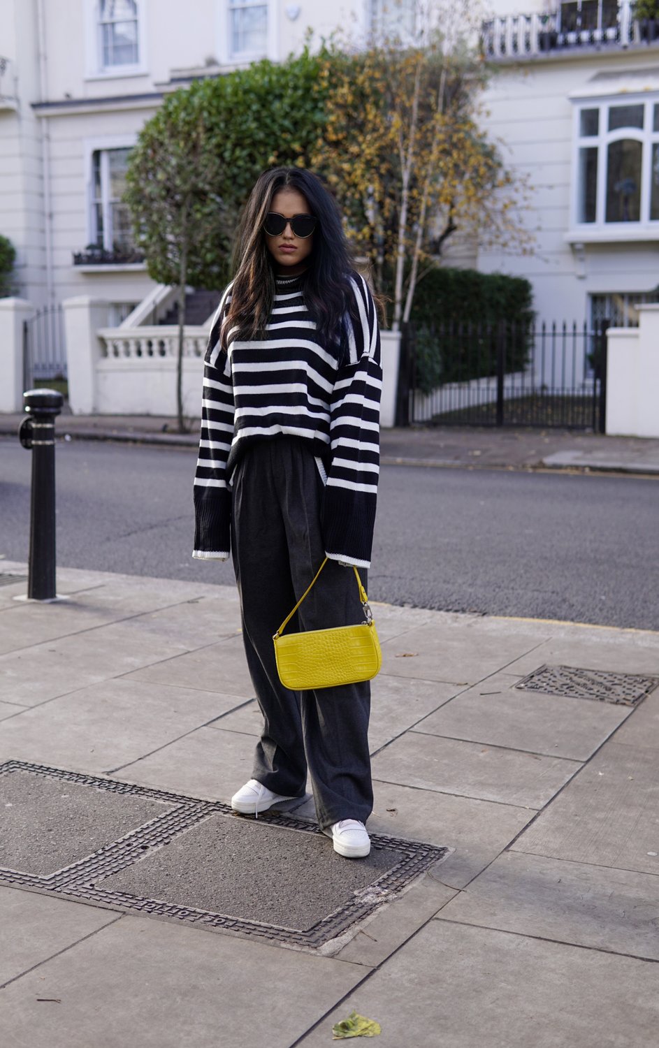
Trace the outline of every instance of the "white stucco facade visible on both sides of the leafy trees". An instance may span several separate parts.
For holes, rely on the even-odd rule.
[[[300,49],[309,27],[316,39],[337,26],[358,38],[378,2],[194,0],[181,7],[176,0],[124,0],[117,3],[122,17],[132,12],[136,19],[134,54],[113,64],[104,59],[101,0],[2,0],[0,59],[7,61],[0,74],[0,233],[18,250],[15,293],[38,307],[71,297],[102,299],[110,303],[108,323],[118,323],[153,287],[144,264],[73,264],[74,253],[101,239],[93,194],[101,211],[109,206],[110,154],[129,148],[162,96],[193,77],[263,54],[283,59]],[[559,27],[562,18],[567,27],[580,9],[578,0],[529,0],[526,14],[510,19],[515,7],[511,0],[490,4],[497,16],[491,23],[495,74],[484,122],[501,140],[506,162],[528,177],[525,221],[535,231],[535,249],[524,257],[484,249],[474,255],[456,239],[447,245],[445,261],[528,277],[540,321],[590,322],[595,306],[601,314],[614,302],[611,296],[628,310],[635,298],[659,284],[659,214],[651,218],[647,211],[650,182],[655,176],[659,180],[659,145],[654,149],[659,124],[657,132],[653,124],[659,119],[654,115],[659,41],[638,38],[629,2],[621,0],[617,28],[609,32],[617,34],[615,40],[605,39],[602,28],[599,36],[586,34],[569,45],[566,36],[565,46],[541,50],[539,34]],[[241,22],[237,12],[247,8],[251,21]],[[257,23],[256,35],[244,28]],[[126,46],[124,37],[117,39]],[[585,105],[600,107],[595,145],[601,211],[608,149],[602,127],[606,107],[616,100],[645,104],[645,220],[614,223],[600,215],[597,221],[578,222],[576,114]],[[628,137],[635,135],[638,128]],[[659,189],[657,194],[659,201]],[[104,236],[111,241],[107,228]]]

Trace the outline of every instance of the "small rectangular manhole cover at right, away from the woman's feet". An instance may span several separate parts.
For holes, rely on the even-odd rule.
[[[594,699],[635,706],[659,684],[657,677],[573,665],[541,665],[514,686],[526,692],[547,692],[574,699]]]

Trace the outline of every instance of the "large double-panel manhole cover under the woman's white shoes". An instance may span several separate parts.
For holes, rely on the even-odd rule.
[[[345,859],[291,815],[23,761],[0,765],[0,881],[284,945],[324,945],[451,851],[373,834]]]

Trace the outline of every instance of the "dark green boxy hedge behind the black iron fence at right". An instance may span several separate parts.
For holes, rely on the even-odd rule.
[[[432,269],[412,307],[415,386],[423,393],[443,383],[496,373],[497,340],[505,337],[506,371],[528,361],[533,292],[523,277],[476,269]]]

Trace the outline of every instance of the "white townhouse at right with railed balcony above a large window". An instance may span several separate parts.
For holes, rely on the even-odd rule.
[[[659,21],[630,0],[497,7],[486,124],[529,179],[536,248],[478,267],[528,277],[540,321],[633,325],[659,286]]]

